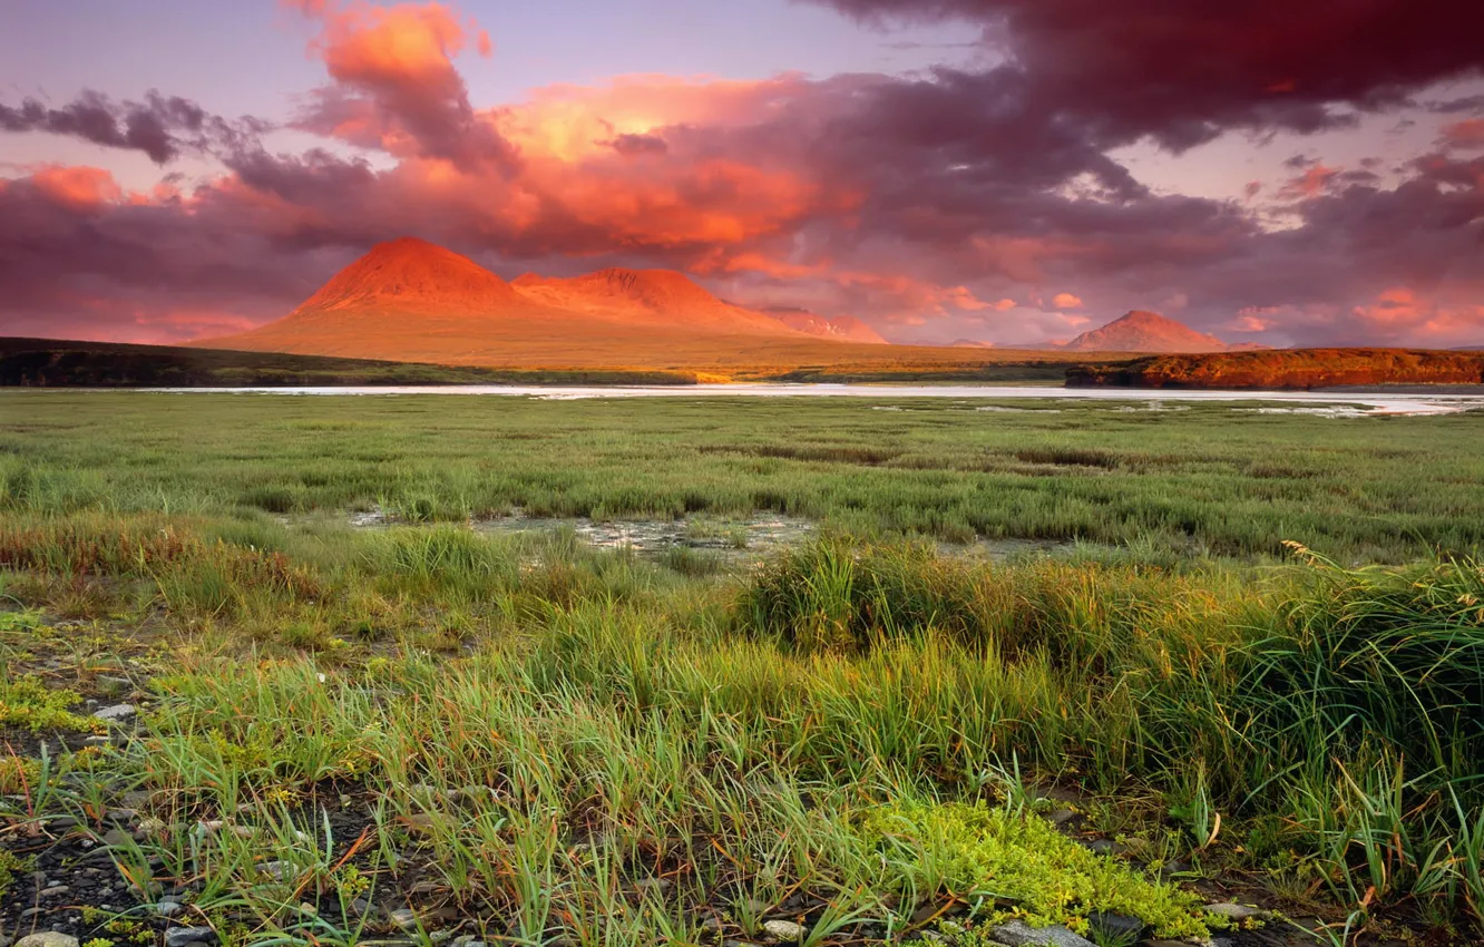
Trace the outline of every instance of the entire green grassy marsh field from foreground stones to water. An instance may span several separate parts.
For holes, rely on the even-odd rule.
[[[1484,416],[1252,407],[0,393],[0,937],[1477,943]]]

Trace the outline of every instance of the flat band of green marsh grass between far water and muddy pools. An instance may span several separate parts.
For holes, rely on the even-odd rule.
[[[876,410],[876,408],[895,410]],[[0,392],[0,509],[739,517],[1347,564],[1484,542],[1484,413]]]

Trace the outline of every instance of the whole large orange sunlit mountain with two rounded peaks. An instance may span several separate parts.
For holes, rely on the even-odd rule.
[[[726,303],[671,270],[509,284],[414,237],[377,243],[276,322],[191,346],[551,368],[818,364],[859,347]]]

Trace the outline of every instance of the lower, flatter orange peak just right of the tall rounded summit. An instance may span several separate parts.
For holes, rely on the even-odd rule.
[[[684,328],[693,332],[792,334],[778,319],[724,303],[675,270],[611,267],[570,279],[525,273],[515,281],[515,289],[543,306],[626,325]]]

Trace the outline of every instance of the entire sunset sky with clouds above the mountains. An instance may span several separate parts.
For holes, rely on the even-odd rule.
[[[1484,4],[0,0],[0,334],[286,315],[380,240],[892,341],[1484,344]]]

